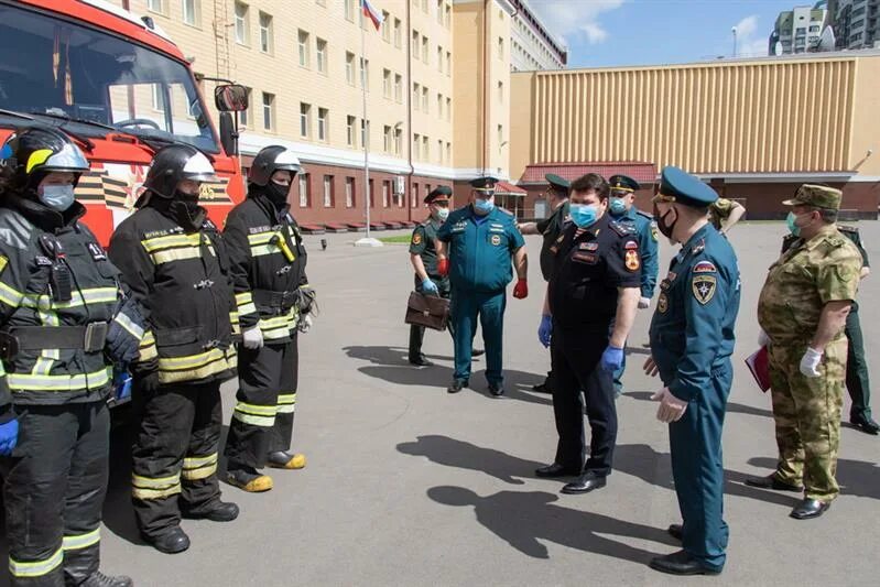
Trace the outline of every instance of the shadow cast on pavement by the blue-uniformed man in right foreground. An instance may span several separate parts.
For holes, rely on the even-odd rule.
[[[477,521],[487,530],[534,558],[550,558],[542,540],[633,563],[644,564],[656,556],[600,534],[676,545],[664,530],[563,508],[553,503],[557,496],[545,491],[499,491],[481,497],[464,487],[441,486],[428,489],[427,496],[444,506],[474,508]]]

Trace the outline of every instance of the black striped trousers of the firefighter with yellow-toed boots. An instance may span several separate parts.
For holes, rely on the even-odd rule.
[[[298,370],[295,331],[289,343],[239,349],[239,388],[224,449],[227,469],[261,469],[270,453],[290,449]]]

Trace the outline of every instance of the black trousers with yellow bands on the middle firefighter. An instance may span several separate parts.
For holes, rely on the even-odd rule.
[[[148,536],[199,514],[220,499],[217,449],[220,382],[167,384],[149,395],[135,387],[140,430],[132,448],[131,496],[138,528]]]

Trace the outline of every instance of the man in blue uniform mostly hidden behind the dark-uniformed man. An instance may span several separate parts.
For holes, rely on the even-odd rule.
[[[608,180],[611,186],[611,197],[608,200],[608,211],[611,217],[621,222],[631,225],[635,229],[639,242],[639,254],[642,261],[642,283],[639,308],[644,309],[651,305],[654,296],[654,285],[658,273],[658,246],[656,222],[650,214],[643,213],[634,206],[635,192],[641,188],[639,182],[627,175],[612,175]],[[620,369],[615,371],[615,395],[623,391],[623,370],[627,368],[626,355]]]

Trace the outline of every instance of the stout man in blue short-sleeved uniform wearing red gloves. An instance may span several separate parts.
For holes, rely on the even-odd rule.
[[[507,285],[517,265],[513,297],[529,295],[525,241],[513,216],[495,207],[495,177],[470,183],[472,202],[449,214],[437,231],[437,270],[449,275],[455,341],[455,374],[447,388],[457,393],[469,384],[471,346],[479,317],[486,345],[486,379],[495,396],[504,394],[501,341]]]

